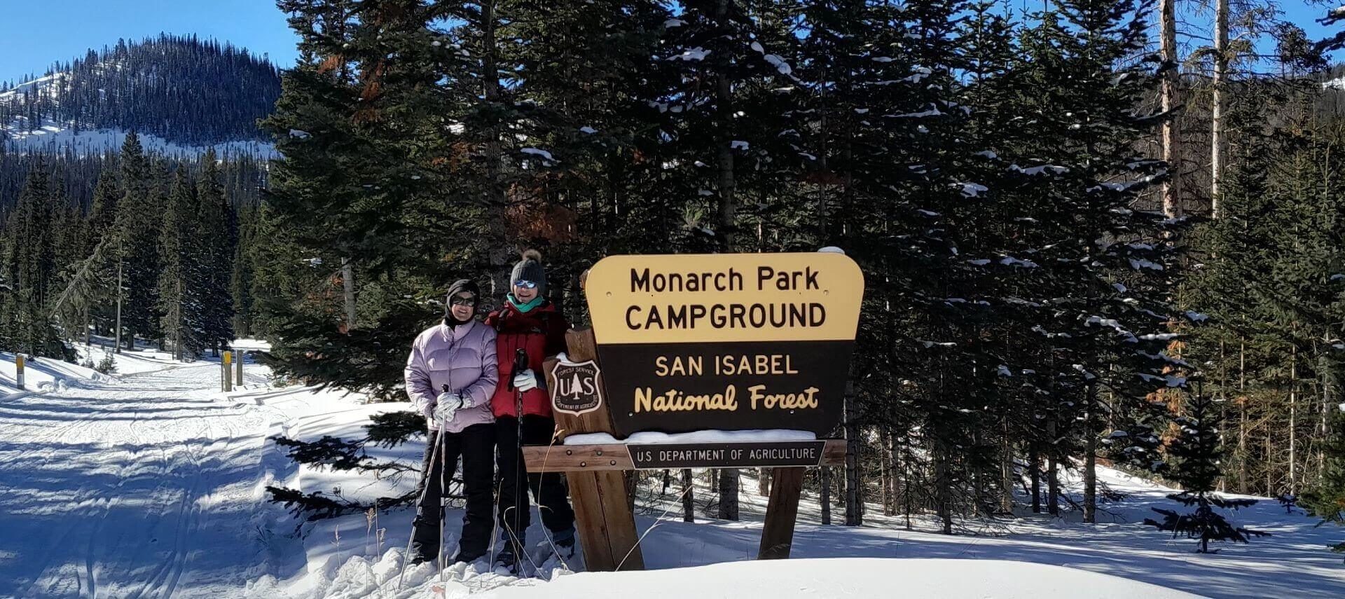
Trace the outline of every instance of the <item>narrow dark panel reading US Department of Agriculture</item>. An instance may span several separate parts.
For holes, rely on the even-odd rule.
[[[824,440],[763,443],[683,443],[631,444],[636,470],[659,468],[755,468],[783,466],[818,466]]]

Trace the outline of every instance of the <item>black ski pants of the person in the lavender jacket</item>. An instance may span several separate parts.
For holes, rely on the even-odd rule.
[[[434,455],[434,437],[440,437],[440,455]],[[463,493],[467,512],[463,516],[463,536],[457,544],[457,559],[471,561],[483,555],[491,544],[491,485],[495,482],[495,425],[473,424],[461,432],[429,432],[425,460],[421,464],[421,497],[412,524],[412,556],[424,560],[438,557],[438,525],[443,518],[440,497],[444,486],[453,479],[457,458],[463,458]],[[433,458],[433,460],[430,459]]]

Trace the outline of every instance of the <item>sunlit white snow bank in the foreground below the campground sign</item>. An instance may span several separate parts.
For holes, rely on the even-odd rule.
[[[1042,599],[1088,596],[1096,599],[1182,599],[1198,595],[1085,572],[1059,565],[1001,560],[943,559],[812,559],[733,561],[695,568],[639,572],[570,573],[555,571],[550,582],[515,579],[459,564],[437,577],[429,564],[408,568],[398,586],[401,552],[391,549],[373,563],[351,557],[323,588],[325,598],[399,596],[492,599],[740,599],[775,598],[997,598]],[[265,596],[274,587],[254,583],[249,596]],[[398,590],[399,587],[399,590]],[[898,592],[900,591],[900,592]]]

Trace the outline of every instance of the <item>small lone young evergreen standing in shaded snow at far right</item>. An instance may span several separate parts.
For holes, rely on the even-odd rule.
[[[1270,536],[1267,532],[1233,526],[1217,509],[1239,509],[1256,503],[1256,499],[1225,498],[1215,493],[1219,479],[1219,460],[1224,452],[1220,442],[1219,407],[1209,396],[1198,390],[1186,397],[1185,413],[1177,416],[1177,432],[1167,443],[1167,478],[1182,487],[1181,493],[1167,495],[1190,513],[1178,513],[1153,507],[1163,520],[1145,518],[1145,524],[1159,530],[1171,532],[1173,537],[1185,536],[1200,541],[1198,553],[1210,553],[1209,542],[1248,542],[1252,537]],[[1215,549],[1217,552],[1219,549]]]

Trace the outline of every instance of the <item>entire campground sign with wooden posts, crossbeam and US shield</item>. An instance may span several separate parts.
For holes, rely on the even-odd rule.
[[[845,463],[845,442],[820,437],[841,420],[859,267],[837,253],[612,256],[585,291],[593,328],[569,331],[568,359],[543,366],[562,444],[523,447],[523,459],[566,472],[588,569],[643,568],[627,470],[772,468],[757,557],[788,557],[804,470]],[[744,429],[811,435],[632,437]],[[564,444],[576,433],[627,442]]]

